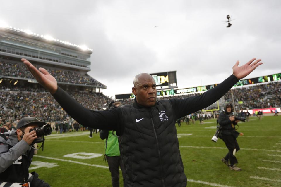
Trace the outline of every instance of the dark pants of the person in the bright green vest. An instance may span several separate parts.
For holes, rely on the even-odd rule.
[[[106,155],[109,171],[111,173],[112,187],[119,187],[119,166],[123,175],[123,186],[126,186],[124,180],[124,166],[120,156],[109,157]]]

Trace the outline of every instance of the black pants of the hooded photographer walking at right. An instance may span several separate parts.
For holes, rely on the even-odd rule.
[[[238,163],[236,157],[233,155],[233,150],[236,149],[236,152],[240,150],[240,147],[237,143],[237,140],[232,135],[222,134],[222,140],[225,142],[225,145],[229,152],[225,155],[225,160],[229,160],[230,165]]]

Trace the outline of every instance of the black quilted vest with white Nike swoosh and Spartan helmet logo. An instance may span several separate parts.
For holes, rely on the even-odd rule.
[[[138,103],[121,107],[124,133],[119,148],[130,186],[186,186],[172,104],[154,107]]]

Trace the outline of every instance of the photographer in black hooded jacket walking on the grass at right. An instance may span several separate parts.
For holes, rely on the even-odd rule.
[[[238,163],[235,153],[240,149],[236,138],[239,135],[243,136],[243,133],[239,133],[235,130],[235,125],[237,125],[239,120],[235,120],[235,116],[232,112],[232,104],[227,104],[218,118],[218,123],[221,129],[220,137],[225,142],[225,145],[229,150],[227,155],[222,158],[222,162],[229,166],[230,170],[241,171],[241,169],[235,165]]]

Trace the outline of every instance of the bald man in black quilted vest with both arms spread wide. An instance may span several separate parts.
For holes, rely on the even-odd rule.
[[[242,79],[261,60],[253,58],[243,66],[232,67],[233,75],[199,96],[186,99],[158,100],[156,83],[147,73],[136,75],[132,88],[135,102],[121,108],[91,111],[77,103],[62,90],[56,79],[44,68],[36,69],[22,59],[28,70],[61,107],[82,125],[114,130],[125,167],[127,186],[186,186],[187,179],[181,160],[175,122],[188,114],[208,107]]]

